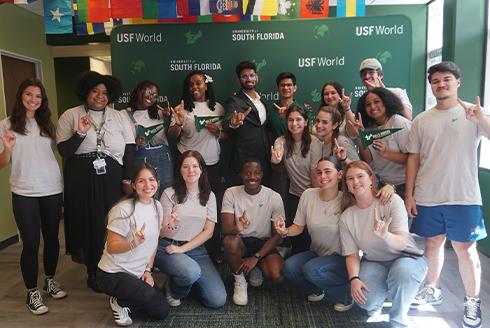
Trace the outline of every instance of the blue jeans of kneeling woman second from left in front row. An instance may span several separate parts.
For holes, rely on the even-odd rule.
[[[207,307],[218,308],[225,305],[225,285],[204,245],[186,253],[168,254],[165,247],[170,244],[168,239],[159,238],[155,265],[170,277],[172,296],[181,299],[191,293]]]

